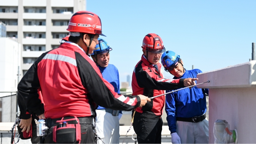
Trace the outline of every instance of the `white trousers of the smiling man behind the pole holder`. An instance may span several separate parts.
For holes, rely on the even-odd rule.
[[[98,137],[105,144],[119,144],[119,120],[118,116],[113,116],[102,110],[96,110],[96,131]],[[103,144],[97,139],[98,144]]]

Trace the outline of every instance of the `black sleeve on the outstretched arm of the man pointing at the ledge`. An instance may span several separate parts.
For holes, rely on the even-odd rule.
[[[149,88],[153,90],[177,90],[178,88],[185,87],[183,82],[184,79],[180,79],[179,83],[157,81],[140,67],[135,68],[135,76],[138,86],[141,88]]]

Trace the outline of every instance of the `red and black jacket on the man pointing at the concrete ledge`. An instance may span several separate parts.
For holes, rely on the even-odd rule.
[[[143,94],[154,97],[164,94],[164,90],[176,90],[185,87],[184,79],[164,79],[161,73],[161,64],[157,64],[159,72],[149,61],[143,57],[134,68],[132,76],[133,95]],[[142,108],[136,108],[135,116],[151,119],[159,119],[165,104],[165,96],[151,99]]]

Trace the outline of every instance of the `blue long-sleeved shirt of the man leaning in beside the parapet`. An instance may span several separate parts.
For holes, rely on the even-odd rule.
[[[197,78],[198,73],[202,73],[202,71],[199,69],[186,70],[180,78],[174,77],[173,79]],[[194,86],[191,89],[185,88],[184,90],[166,94],[166,120],[171,133],[176,132],[176,117],[190,118],[206,113],[205,93],[208,94],[208,89]]]

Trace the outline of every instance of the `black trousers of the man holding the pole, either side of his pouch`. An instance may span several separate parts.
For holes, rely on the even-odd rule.
[[[80,123],[81,125],[81,144],[96,144],[97,138],[93,131],[91,124]],[[53,142],[53,127],[48,129],[46,136],[44,136],[45,144],[54,144]]]

